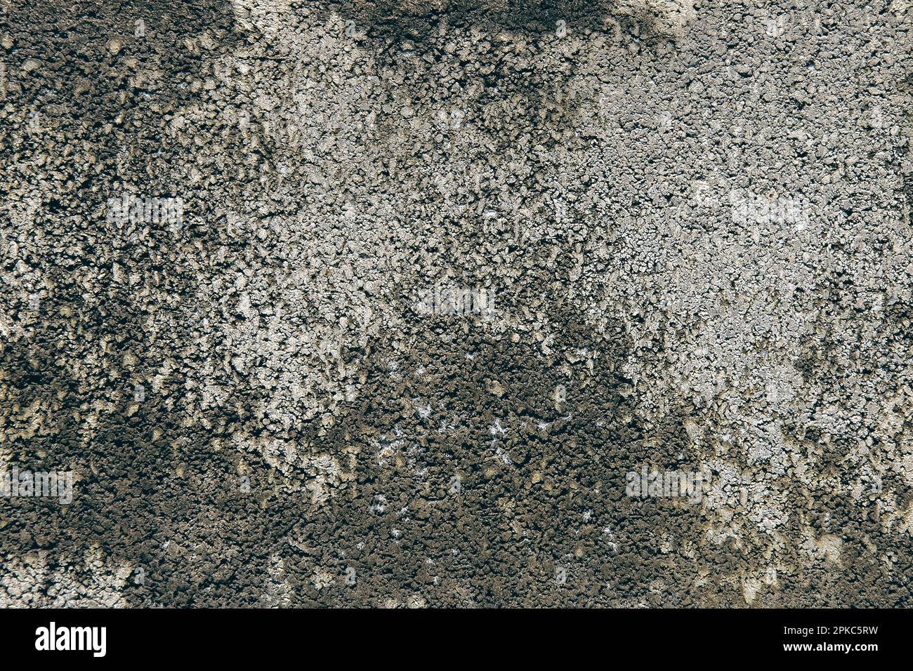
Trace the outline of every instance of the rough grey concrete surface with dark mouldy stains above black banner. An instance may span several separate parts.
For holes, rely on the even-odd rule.
[[[0,8],[0,606],[913,605],[905,0]]]

